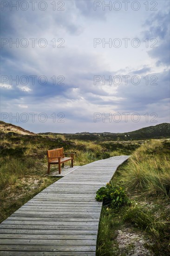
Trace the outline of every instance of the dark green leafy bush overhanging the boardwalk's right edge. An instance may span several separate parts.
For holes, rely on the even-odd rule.
[[[124,188],[113,186],[112,183],[107,183],[105,187],[98,189],[95,199],[103,200],[103,205],[107,205],[108,208],[118,208],[129,202]]]

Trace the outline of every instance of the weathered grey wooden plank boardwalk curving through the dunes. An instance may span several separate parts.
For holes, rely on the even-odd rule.
[[[128,156],[81,166],[0,224],[1,256],[95,256],[102,203],[96,191]]]

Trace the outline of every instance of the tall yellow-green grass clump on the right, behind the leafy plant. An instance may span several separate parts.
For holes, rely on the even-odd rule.
[[[170,156],[162,149],[163,141],[150,141],[135,151],[125,174],[129,191],[170,196]]]

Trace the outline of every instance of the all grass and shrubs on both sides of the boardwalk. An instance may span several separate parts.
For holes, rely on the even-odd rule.
[[[35,135],[26,130],[23,135],[22,128],[19,133],[16,133],[17,127],[15,132],[11,132],[11,126],[9,128],[3,123],[0,135],[0,221],[58,179],[45,176],[47,149],[64,147],[66,152],[75,152],[75,165],[114,155],[131,155],[118,168],[112,181],[97,193],[96,198],[104,200],[97,255],[123,256],[133,251],[133,243],[121,250],[118,240],[120,230],[131,230],[132,234],[144,237],[144,246],[152,254],[169,255],[170,141],[145,141],[146,133],[148,137],[154,134],[163,137],[169,125],[155,127],[144,128],[142,135],[137,131],[117,135]],[[128,135],[131,137],[127,138]]]

